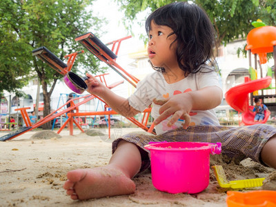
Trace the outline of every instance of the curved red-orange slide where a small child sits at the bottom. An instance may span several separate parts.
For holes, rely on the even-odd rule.
[[[227,103],[238,112],[242,112],[242,122],[245,125],[264,124],[268,120],[270,112],[266,111],[262,122],[254,122],[255,113],[249,110],[253,110],[253,106],[249,106],[248,94],[255,90],[267,88],[271,81],[271,77],[264,77],[253,81],[249,81],[248,79],[245,83],[230,88],[226,92],[225,99]]]

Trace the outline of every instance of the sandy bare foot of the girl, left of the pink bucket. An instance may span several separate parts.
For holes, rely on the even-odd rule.
[[[63,185],[71,199],[92,199],[135,192],[135,183],[121,170],[110,166],[78,169],[67,173]]]

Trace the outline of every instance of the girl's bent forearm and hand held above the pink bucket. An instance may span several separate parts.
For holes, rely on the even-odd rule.
[[[155,125],[170,117],[168,126],[172,126],[179,118],[185,120],[184,128],[190,124],[190,110],[209,110],[219,106],[222,99],[222,90],[217,86],[208,86],[200,90],[184,92],[174,95],[170,99],[153,100],[155,104],[161,105],[160,116],[155,119]]]

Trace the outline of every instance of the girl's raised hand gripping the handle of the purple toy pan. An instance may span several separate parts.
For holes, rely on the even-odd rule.
[[[106,86],[104,86],[101,81],[90,75],[88,72],[86,72],[86,77],[88,77],[88,79],[86,80],[86,84],[88,86],[88,88],[86,89],[87,92],[90,92],[93,95],[101,96],[104,90],[106,90]]]

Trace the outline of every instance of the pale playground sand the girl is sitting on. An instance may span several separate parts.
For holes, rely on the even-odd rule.
[[[112,133],[121,135],[133,131],[142,130],[121,128]],[[0,142],[0,206],[227,206],[229,189],[219,187],[211,169],[208,188],[195,195],[160,192],[152,186],[151,174],[147,171],[134,178],[137,189],[132,195],[73,201],[62,188],[66,173],[108,164],[110,139],[104,135],[106,131],[101,136],[90,136],[77,129],[73,136],[67,129],[60,136],[55,132],[33,130]],[[0,132],[0,137],[6,133]],[[41,139],[34,137],[38,133]],[[224,167],[228,180],[266,177],[264,187],[276,190],[276,172],[272,168],[250,159],[235,164],[221,155],[210,155],[210,165],[214,164]]]

